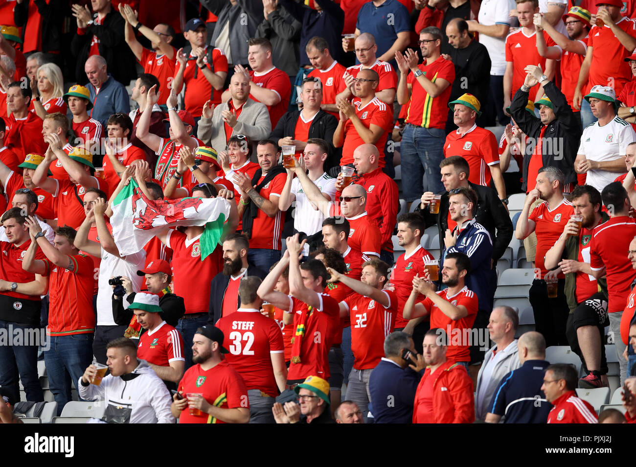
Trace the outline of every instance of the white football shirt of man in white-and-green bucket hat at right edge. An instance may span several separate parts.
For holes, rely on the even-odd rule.
[[[636,141],[636,133],[632,129],[632,125],[616,116],[614,120],[602,127],[598,126],[598,122],[588,125],[583,130],[581,145],[576,153],[583,154],[585,158],[590,160],[605,162],[625,155],[627,145],[633,141]],[[588,171],[585,183],[602,192],[603,188],[612,183],[618,176],[618,172]]]

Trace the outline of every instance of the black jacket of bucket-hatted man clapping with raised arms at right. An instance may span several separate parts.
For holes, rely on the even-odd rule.
[[[565,184],[576,183],[576,172],[574,172],[574,159],[576,151],[579,149],[581,140],[581,122],[574,115],[574,112],[567,103],[565,95],[550,81],[543,88],[546,95],[552,101],[554,107],[555,120],[548,123],[548,127],[543,134],[541,153],[543,155],[543,166],[551,165],[560,169],[565,175]],[[531,139],[538,141],[541,128],[544,126],[536,116],[530,115],[525,109],[528,104],[528,93],[519,89],[510,104],[510,114],[515,119],[518,127]],[[528,166],[534,151],[535,144],[527,144],[523,155],[523,185],[522,190],[528,186]]]

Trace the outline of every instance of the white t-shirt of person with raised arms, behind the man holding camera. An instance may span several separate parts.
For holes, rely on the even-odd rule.
[[[132,281],[133,291],[141,291],[144,277],[137,275],[137,271],[146,265],[146,251],[128,254],[123,260],[102,248],[101,258],[97,277],[97,326],[116,326],[113,319],[113,288],[109,286],[108,281],[111,277],[123,275]],[[128,308],[126,300],[123,300],[123,306]]]

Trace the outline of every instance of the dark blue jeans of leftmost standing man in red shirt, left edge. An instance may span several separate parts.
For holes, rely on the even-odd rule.
[[[0,331],[6,333],[9,339],[15,335],[16,330],[28,333],[31,329],[31,326],[20,326],[20,324],[0,320]],[[43,330],[40,331],[43,332]],[[27,400],[43,401],[44,391],[38,380],[38,342],[29,342],[35,345],[11,345],[11,341],[6,344],[0,342],[0,386],[10,389],[15,400],[19,401],[18,381],[21,379]]]

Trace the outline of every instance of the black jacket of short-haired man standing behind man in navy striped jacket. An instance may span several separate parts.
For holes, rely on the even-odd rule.
[[[483,225],[490,233],[492,238],[492,259],[497,261],[506,251],[506,247],[513,238],[513,222],[510,220],[506,207],[499,200],[499,195],[490,186],[474,185],[468,182],[468,185],[477,193],[477,209],[474,211],[475,220]],[[448,193],[441,195],[439,204],[439,214],[429,213],[429,209],[420,209],[418,206],[416,211],[424,216],[426,225],[437,224],[439,230],[439,244],[443,245],[444,235],[448,228]],[[497,235],[495,235],[495,228]]]

